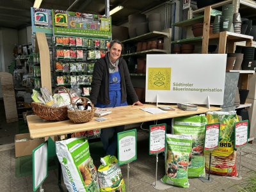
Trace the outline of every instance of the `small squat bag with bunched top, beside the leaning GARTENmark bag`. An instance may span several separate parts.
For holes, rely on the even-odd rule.
[[[101,165],[98,169],[100,191],[125,192],[124,179],[120,166],[115,156],[100,158]]]

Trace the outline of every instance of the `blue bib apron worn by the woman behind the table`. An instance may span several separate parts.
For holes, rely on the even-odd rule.
[[[109,101],[110,104],[100,104],[97,102],[95,107],[97,108],[115,108],[119,106],[127,106],[127,102],[122,102],[121,92],[121,76],[120,72],[114,72],[109,74]]]

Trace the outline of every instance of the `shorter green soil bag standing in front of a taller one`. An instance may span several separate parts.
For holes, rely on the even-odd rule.
[[[165,173],[161,179],[166,184],[188,188],[188,164],[192,136],[166,134]]]

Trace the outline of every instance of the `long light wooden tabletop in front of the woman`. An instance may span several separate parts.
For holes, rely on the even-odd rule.
[[[164,106],[164,105],[161,105]],[[219,111],[221,108],[212,107],[207,109],[204,106],[198,106],[197,111],[183,111],[177,106],[172,106],[175,111],[167,111],[167,113],[151,114],[140,108],[156,108],[156,105],[144,104],[143,106],[124,106],[118,108],[111,108],[112,113],[104,116],[108,118],[104,122],[97,122],[93,118],[90,122],[84,124],[74,124],[70,120],[61,122],[51,122],[42,120],[42,118],[32,115],[27,116],[28,128],[31,138],[44,138],[47,136],[61,136],[73,132],[89,131],[92,129],[102,129],[108,127],[115,127],[118,125],[129,125],[140,122],[148,122],[152,120],[161,120],[166,118],[173,118],[177,116],[187,116],[205,113],[207,111]]]

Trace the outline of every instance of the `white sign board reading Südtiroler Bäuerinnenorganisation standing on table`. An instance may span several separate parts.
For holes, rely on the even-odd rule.
[[[148,54],[146,102],[223,104],[227,54]]]

